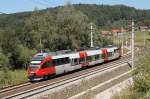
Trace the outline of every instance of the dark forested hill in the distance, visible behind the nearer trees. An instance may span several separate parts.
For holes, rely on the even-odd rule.
[[[89,20],[94,22],[98,27],[117,27],[121,20],[131,20],[134,18],[139,25],[150,25],[150,10],[140,10],[124,5],[96,5],[96,4],[76,4],[75,9],[83,12]],[[41,14],[49,11],[56,16],[60,7],[40,10]],[[23,26],[25,19],[31,16],[32,12],[22,12],[7,15],[0,15],[0,27]],[[128,23],[127,23],[128,24]]]

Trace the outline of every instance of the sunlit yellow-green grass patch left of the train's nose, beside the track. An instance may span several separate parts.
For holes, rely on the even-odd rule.
[[[27,71],[8,70],[7,72],[0,72],[0,88],[16,85],[27,81]]]

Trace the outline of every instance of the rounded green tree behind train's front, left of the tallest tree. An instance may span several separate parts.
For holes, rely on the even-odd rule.
[[[53,48],[53,35],[56,31],[55,21],[50,12],[39,14],[35,11],[26,20],[22,42],[29,48]],[[51,48],[51,49],[52,49]]]

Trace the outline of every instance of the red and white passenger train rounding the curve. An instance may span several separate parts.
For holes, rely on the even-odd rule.
[[[78,52],[38,53],[33,56],[28,66],[28,78],[30,81],[40,80],[49,76],[108,62],[120,56],[120,48],[115,46]]]

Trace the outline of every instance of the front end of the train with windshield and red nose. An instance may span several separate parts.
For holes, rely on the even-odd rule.
[[[39,71],[40,71],[41,62],[43,59],[44,57],[39,54],[33,56],[28,66],[28,79],[30,81],[36,81],[36,80],[42,79],[42,75],[39,75]]]

